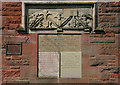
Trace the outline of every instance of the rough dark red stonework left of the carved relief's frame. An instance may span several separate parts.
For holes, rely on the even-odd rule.
[[[21,2],[2,3],[2,29],[17,29],[19,24],[21,24],[21,15]]]

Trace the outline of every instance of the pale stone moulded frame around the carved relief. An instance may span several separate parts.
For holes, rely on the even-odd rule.
[[[52,31],[53,29],[40,29],[40,30],[31,30],[31,32],[30,32],[30,29],[28,28],[28,19],[26,19],[27,18],[27,5],[62,5],[62,4],[65,4],[65,6],[67,6],[67,5],[83,5],[83,4],[85,4],[85,5],[93,5],[93,7],[92,7],[92,9],[93,9],[93,24],[92,24],[92,31],[91,32],[80,32],[80,34],[90,34],[90,33],[94,33],[94,30],[96,29],[96,27],[98,26],[98,11],[97,11],[97,1],[36,1],[36,2],[34,2],[34,1],[23,1],[22,2],[22,26],[23,26],[23,28],[24,28],[24,30],[25,30],[25,32],[28,34],[28,33],[38,33],[38,31]],[[66,30],[67,31],[67,29],[63,29],[63,30]],[[74,30],[76,30],[76,29],[70,29],[71,30],[71,32],[72,31],[74,31]],[[33,32],[32,32],[33,31]],[[69,30],[68,30],[69,31]],[[80,31],[80,30],[79,30]],[[84,30],[83,30],[84,31]],[[58,32],[59,32],[59,30],[58,30]],[[61,30],[60,30],[60,32],[62,32]],[[51,32],[50,32],[51,33]]]

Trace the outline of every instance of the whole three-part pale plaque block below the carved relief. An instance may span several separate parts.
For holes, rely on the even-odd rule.
[[[80,35],[39,35],[39,77],[59,75],[81,78]]]

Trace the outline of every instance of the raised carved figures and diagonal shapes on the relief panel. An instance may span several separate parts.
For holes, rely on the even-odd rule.
[[[70,10],[71,11],[71,10]],[[74,11],[75,12],[75,11]],[[67,29],[85,29],[92,28],[92,15],[82,14],[79,11],[70,16],[64,16],[64,12],[49,11],[44,9],[35,12],[29,16],[30,29],[51,29],[51,28],[67,28]],[[71,11],[73,13],[73,11]]]

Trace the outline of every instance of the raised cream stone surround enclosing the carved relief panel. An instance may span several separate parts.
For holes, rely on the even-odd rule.
[[[65,4],[65,5],[82,5],[82,4],[87,4],[87,5],[93,5],[93,21],[92,21],[92,31],[91,33],[94,32],[95,28],[97,27],[97,24],[98,24],[98,20],[97,20],[97,1],[22,1],[22,26],[24,28],[24,32],[25,33],[44,33],[42,31],[38,32],[38,31],[35,31],[35,32],[30,32],[28,28],[26,28],[27,24],[28,24],[28,21],[26,20],[26,5],[29,5],[29,4],[32,4],[32,5],[35,5],[35,4],[39,4],[39,5],[43,5],[43,4],[46,4],[46,5],[52,5],[52,4]],[[49,34],[49,33],[54,33],[54,34],[58,34],[58,32],[54,31],[54,32],[51,32],[51,31],[46,31],[45,32],[46,34]],[[75,30],[72,30],[72,33],[66,33],[66,32],[63,32],[63,34],[81,34],[80,32],[76,32]]]

